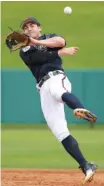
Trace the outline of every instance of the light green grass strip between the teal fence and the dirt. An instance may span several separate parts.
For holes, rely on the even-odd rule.
[[[70,126],[82,152],[104,168],[104,125]],[[46,125],[2,125],[3,168],[77,168]]]

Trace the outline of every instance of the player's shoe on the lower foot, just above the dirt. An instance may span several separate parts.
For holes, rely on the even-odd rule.
[[[93,177],[95,175],[97,165],[95,163],[88,163],[86,162],[84,167],[79,167],[82,169],[82,172],[85,174],[84,183],[91,182],[93,180]]]

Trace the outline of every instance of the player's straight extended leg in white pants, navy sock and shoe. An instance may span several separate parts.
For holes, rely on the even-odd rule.
[[[49,82],[49,86],[51,82]],[[90,165],[80,151],[78,142],[70,135],[64,113],[64,104],[54,99],[48,91],[48,81],[40,91],[41,107],[49,128],[62,143],[65,150],[79,163],[88,181],[95,173],[94,166]],[[92,166],[92,167],[91,167]],[[90,174],[89,174],[90,172]]]

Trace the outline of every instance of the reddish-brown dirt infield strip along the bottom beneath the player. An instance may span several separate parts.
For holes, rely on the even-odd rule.
[[[84,175],[80,170],[2,169],[2,186],[81,186]],[[98,170],[91,183],[104,186],[104,170]]]

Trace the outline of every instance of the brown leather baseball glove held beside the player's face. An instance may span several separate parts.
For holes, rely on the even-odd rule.
[[[21,47],[25,47],[29,42],[29,36],[19,31],[13,31],[6,38],[6,45],[10,51],[15,51]]]

